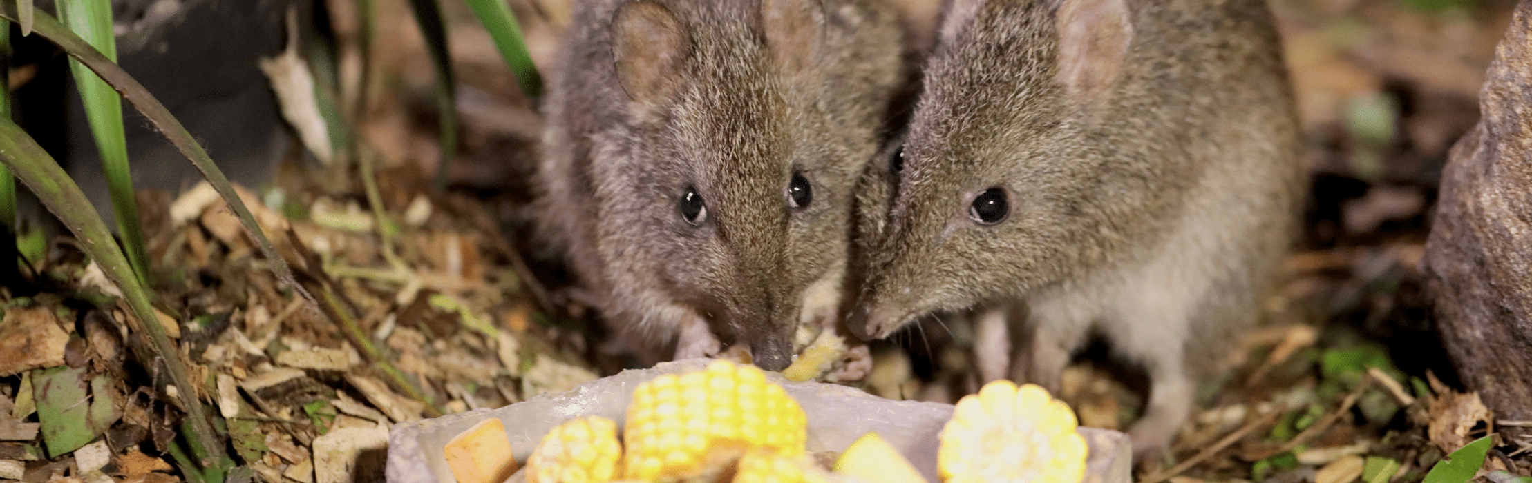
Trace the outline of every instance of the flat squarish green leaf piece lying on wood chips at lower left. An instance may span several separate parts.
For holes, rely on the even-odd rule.
[[[86,404],[86,381],[83,368],[54,367],[32,371],[32,397],[37,397],[37,422],[43,433],[47,457],[80,449],[97,437],[90,425],[83,425],[90,416]]]

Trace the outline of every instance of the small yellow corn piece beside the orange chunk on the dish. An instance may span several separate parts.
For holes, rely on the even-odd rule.
[[[617,477],[617,423],[601,416],[564,422],[527,457],[527,483],[604,483]]]

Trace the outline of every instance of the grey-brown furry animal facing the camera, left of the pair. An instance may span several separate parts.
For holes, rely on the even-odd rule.
[[[581,2],[545,104],[542,237],[619,336],[783,368],[841,290],[852,182],[899,81],[878,0]],[[792,173],[812,202],[787,205]],[[706,220],[677,202],[696,186]]]

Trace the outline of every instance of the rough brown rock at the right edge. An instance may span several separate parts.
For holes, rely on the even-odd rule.
[[[1532,0],[1521,0],[1478,93],[1483,118],[1442,173],[1425,258],[1448,353],[1500,420],[1532,419],[1529,31]]]

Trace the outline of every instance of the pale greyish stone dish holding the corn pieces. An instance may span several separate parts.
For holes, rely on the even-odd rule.
[[[708,359],[665,362],[654,368],[625,370],[611,378],[587,382],[571,391],[542,394],[498,410],[475,410],[418,422],[397,423],[389,434],[389,483],[455,483],[443,459],[452,437],[487,417],[499,417],[516,462],[525,462],[542,434],[581,416],[604,416],[622,425],[633,388],[660,374],[703,370]],[[936,402],[890,400],[861,390],[820,384],[789,382],[777,373],[768,379],[781,384],[809,417],[810,452],[846,449],[867,431],[878,431],[899,449],[927,481],[936,478],[936,443],[942,425],[951,419],[953,405]],[[1128,436],[1118,431],[1080,428],[1091,452],[1083,483],[1129,483],[1132,451]]]

